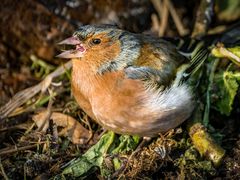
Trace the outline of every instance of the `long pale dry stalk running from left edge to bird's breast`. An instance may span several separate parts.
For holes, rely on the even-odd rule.
[[[71,67],[72,62],[69,61],[64,65],[58,67],[55,71],[53,71],[49,75],[47,75],[46,78],[44,78],[44,80],[41,81],[39,84],[18,92],[12,99],[10,99],[10,101],[6,105],[0,107],[0,121],[8,117],[8,115],[11,112],[13,112],[16,108],[20,107],[24,103],[26,103],[37,93],[45,92],[52,83],[52,80],[54,78],[62,75],[66,70],[70,69]]]

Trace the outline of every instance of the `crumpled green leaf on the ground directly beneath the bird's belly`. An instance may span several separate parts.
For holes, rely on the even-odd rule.
[[[117,138],[113,132],[108,132],[84,155],[71,162],[62,174],[80,177],[92,173],[94,168],[98,167],[100,168],[101,175],[107,177],[111,172],[103,163],[106,155],[134,150],[139,140],[138,136],[122,135]],[[121,167],[121,161],[118,158],[113,159],[113,164],[115,169]]]

